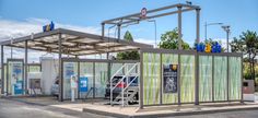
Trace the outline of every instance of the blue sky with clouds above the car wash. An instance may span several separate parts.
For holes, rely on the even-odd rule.
[[[200,5],[200,38],[204,39],[204,23],[231,26],[230,38],[247,30],[258,32],[258,0],[190,0]],[[52,21],[57,27],[101,34],[101,22],[138,13],[142,8],[156,9],[185,0],[0,0],[0,40],[42,32]],[[156,20],[157,42],[161,34],[177,27],[177,15]],[[108,26],[107,26],[108,27]],[[106,30],[107,31],[107,30]],[[154,24],[143,21],[121,30],[130,31],[134,42],[154,45]],[[110,33],[114,36],[114,31]],[[225,43],[225,32],[219,25],[208,26],[208,38]],[[192,45],[196,38],[196,12],[183,13],[183,39]]]

